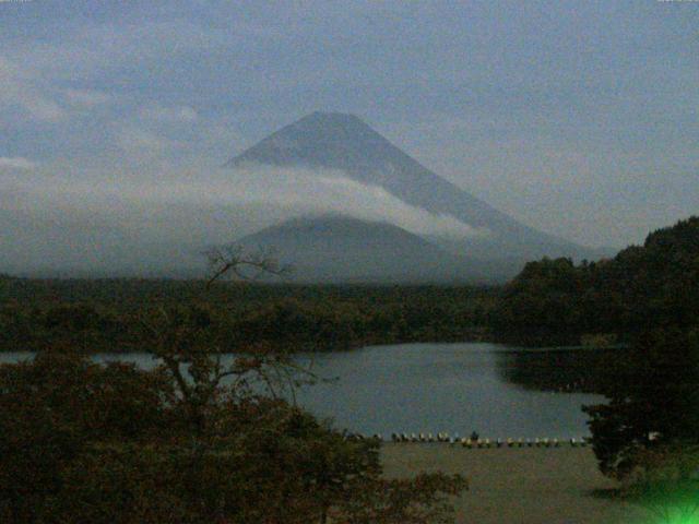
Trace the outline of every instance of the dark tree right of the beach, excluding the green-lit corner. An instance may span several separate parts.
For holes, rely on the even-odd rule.
[[[628,356],[606,384],[609,402],[584,407],[600,467],[615,478],[645,450],[699,442],[699,331],[653,330]]]

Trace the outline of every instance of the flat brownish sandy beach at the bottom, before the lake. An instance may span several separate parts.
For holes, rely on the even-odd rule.
[[[650,522],[642,509],[600,495],[615,483],[589,448],[465,449],[445,443],[387,443],[389,476],[460,473],[471,489],[457,501],[457,522],[473,524],[626,524]]]

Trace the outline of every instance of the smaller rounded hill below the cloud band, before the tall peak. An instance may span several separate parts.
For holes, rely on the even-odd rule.
[[[489,273],[398,226],[337,215],[294,218],[236,243],[274,249],[298,282],[485,282]]]

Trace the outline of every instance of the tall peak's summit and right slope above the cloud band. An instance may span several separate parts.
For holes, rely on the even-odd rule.
[[[313,112],[234,157],[226,167],[249,164],[342,170],[354,180],[383,188],[410,205],[452,215],[489,231],[477,238],[441,243],[445,249],[470,258],[524,261],[543,255],[597,255],[594,250],[533,229],[497,211],[427,169],[352,115]]]

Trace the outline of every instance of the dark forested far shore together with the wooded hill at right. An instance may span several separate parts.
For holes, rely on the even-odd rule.
[[[699,217],[611,260],[530,262],[501,288],[222,283],[204,290],[201,281],[0,275],[0,350],[147,350],[139,330],[158,308],[204,323],[224,350],[483,340],[608,346],[654,326],[688,331],[699,317],[698,290]]]

